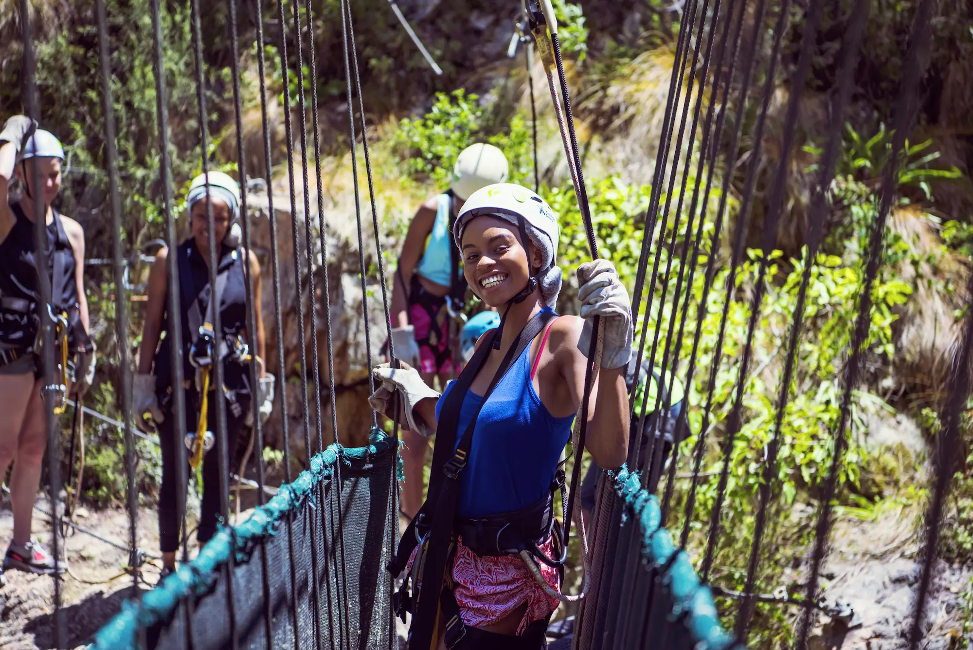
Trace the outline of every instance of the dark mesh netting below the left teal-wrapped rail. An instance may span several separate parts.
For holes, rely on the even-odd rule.
[[[398,542],[394,458],[387,450],[343,463],[341,499],[338,475],[323,480],[289,525],[236,563],[232,581],[224,566],[204,594],[149,629],[146,645],[232,648],[235,631],[237,647],[254,650],[318,647],[318,637],[322,648],[393,647],[384,567]]]

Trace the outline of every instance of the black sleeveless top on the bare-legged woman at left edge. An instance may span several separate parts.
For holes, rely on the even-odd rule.
[[[34,266],[37,247],[33,222],[18,203],[10,207],[17,220],[0,242],[0,343],[27,349],[34,345],[40,325],[41,291]],[[87,349],[90,343],[80,324],[74,248],[57,210],[51,211],[54,219],[47,227],[47,254],[52,311],[54,316],[67,313],[69,348]]]

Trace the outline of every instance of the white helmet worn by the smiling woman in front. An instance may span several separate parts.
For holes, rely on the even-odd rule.
[[[533,244],[541,253],[541,268],[531,275],[531,281],[522,294],[514,299],[521,302],[540,286],[541,295],[548,307],[554,307],[560,293],[561,271],[558,261],[560,228],[554,210],[537,194],[514,183],[488,185],[474,192],[463,204],[453,224],[452,235],[456,245],[462,247],[463,231],[470,221],[480,216],[491,216],[510,222],[518,228],[521,243]],[[522,297],[523,296],[523,297]]]

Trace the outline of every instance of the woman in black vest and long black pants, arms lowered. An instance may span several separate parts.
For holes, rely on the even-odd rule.
[[[208,197],[208,199],[207,199]],[[234,458],[234,449],[240,429],[250,413],[251,396],[256,392],[250,384],[250,371],[244,346],[253,350],[261,359],[266,358],[264,347],[264,320],[260,309],[261,276],[260,264],[256,256],[239,247],[238,227],[233,228],[239,217],[239,190],[236,182],[220,172],[209,172],[206,177],[199,176],[192,184],[186,200],[190,214],[192,235],[176,249],[179,255],[180,309],[182,323],[183,377],[186,397],[186,421],[177,423],[172,414],[172,385],[174,373],[171,369],[169,338],[162,338],[168,329],[169,290],[167,258],[169,251],[162,248],[156,255],[149,274],[149,301],[146,307],[145,327],[142,332],[142,346],[139,350],[138,374],[134,379],[133,405],[135,421],[140,428],[151,430],[154,423],[159,429],[162,443],[162,488],[159,495],[159,536],[162,550],[162,577],[175,568],[176,551],[179,548],[179,517],[177,508],[177,459],[178,445],[186,442],[190,457],[202,453],[203,493],[197,538],[200,546],[215,533],[220,517],[220,472],[229,472],[229,467],[221,468],[216,451],[204,452],[198,448],[197,432],[205,431],[203,450],[213,446],[210,432],[216,432],[216,392],[212,382],[206,391],[206,421],[200,426],[200,411],[203,408],[203,374],[209,374],[210,367],[200,359],[205,340],[200,338],[200,325],[208,324],[210,308],[209,284],[209,222],[207,219],[207,200],[213,218],[213,230],[219,245],[217,267],[217,293],[219,297],[220,326],[222,333],[213,335],[213,350],[219,350],[226,343],[225,351],[214,354],[212,361],[222,355],[224,372],[224,393],[227,397],[227,455]],[[256,336],[246,331],[246,314],[249,308],[246,301],[246,280],[243,273],[244,262],[250,265],[253,276],[253,297],[256,307]],[[215,299],[214,299],[215,300]],[[195,345],[195,348],[194,348]],[[253,349],[253,348],[256,349]],[[261,374],[264,373],[260,365]],[[259,395],[262,401],[262,415],[270,415],[272,395]],[[151,415],[151,420],[144,418]],[[187,468],[189,469],[189,468]],[[187,474],[188,476],[188,474]]]

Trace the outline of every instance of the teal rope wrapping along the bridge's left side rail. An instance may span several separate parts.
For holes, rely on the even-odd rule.
[[[308,498],[313,498],[315,488],[332,477],[338,462],[367,461],[395,447],[395,441],[384,434],[373,434],[370,443],[368,447],[353,449],[334,444],[312,456],[309,468],[291,483],[281,486],[277,494],[257,508],[247,521],[234,527],[222,526],[199,551],[196,560],[180,566],[140,600],[127,600],[121,613],[94,635],[91,648],[137,648],[138,632],[167,618],[182,598],[204,594],[216,578],[218,569],[232,556],[236,562],[249,560],[248,549],[252,550],[261,538],[274,535],[284,517],[298,511]]]

